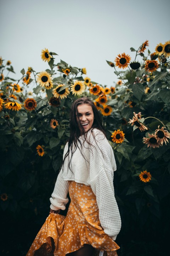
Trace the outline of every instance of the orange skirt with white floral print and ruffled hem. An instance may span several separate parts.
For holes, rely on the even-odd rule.
[[[117,256],[116,250],[120,247],[101,227],[96,196],[91,187],[68,182],[71,202],[66,217],[50,213],[26,256],[65,256],[84,244],[95,248],[95,256]]]

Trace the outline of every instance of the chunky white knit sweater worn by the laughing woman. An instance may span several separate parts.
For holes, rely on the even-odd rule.
[[[83,136],[80,137],[80,140],[83,145],[82,149],[79,143],[78,145],[84,158],[77,148],[71,161],[72,171],[68,169],[69,160],[68,157],[66,158],[63,171],[61,170],[57,177],[50,198],[50,208],[52,210],[64,210],[66,208],[69,180],[90,185],[96,195],[101,226],[104,232],[115,240],[121,228],[121,219],[114,197],[113,173],[116,170],[116,164],[113,149],[104,134],[98,129],[90,129],[87,133],[87,140],[92,145],[87,144]],[[67,150],[68,143],[64,148],[63,156]]]

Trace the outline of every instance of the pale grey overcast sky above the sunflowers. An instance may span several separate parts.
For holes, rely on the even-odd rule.
[[[58,54],[55,64],[85,67],[92,81],[110,87],[118,78],[106,60],[123,52],[134,60],[130,47],[149,40],[154,52],[170,40],[169,10],[169,0],[0,0],[0,56],[19,79],[22,68],[49,68],[41,59],[47,48]]]

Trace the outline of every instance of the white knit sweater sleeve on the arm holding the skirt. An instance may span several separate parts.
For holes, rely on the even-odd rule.
[[[64,154],[66,153],[66,147],[64,149]],[[50,208],[52,210],[65,210],[66,209],[66,204],[68,203],[68,198],[67,198],[67,194],[68,194],[68,181],[64,181],[61,177],[62,175],[62,171],[59,172],[56,183],[55,183],[55,187],[54,187],[54,191],[51,195],[50,198]]]

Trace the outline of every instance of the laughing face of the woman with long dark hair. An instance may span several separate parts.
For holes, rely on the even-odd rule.
[[[94,121],[94,113],[89,104],[81,104],[77,107],[78,117],[85,132],[91,129]]]

